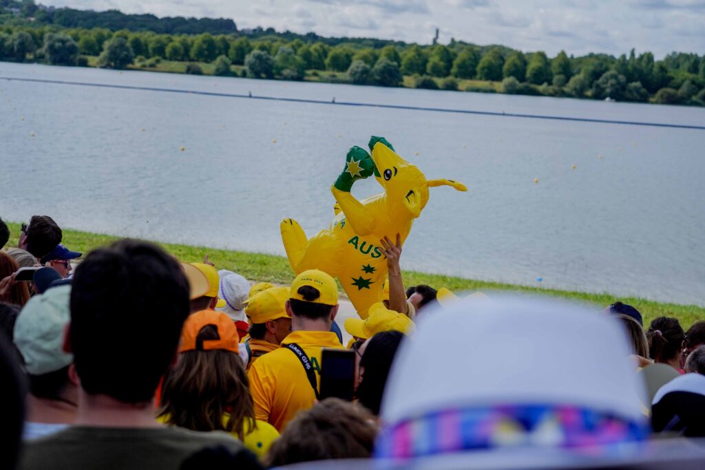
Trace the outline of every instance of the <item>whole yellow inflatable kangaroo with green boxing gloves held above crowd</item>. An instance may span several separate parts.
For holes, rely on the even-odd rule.
[[[414,219],[429,201],[429,187],[451,186],[467,191],[453,180],[427,180],[419,168],[395,152],[384,137],[369,141],[370,156],[353,147],[345,158],[345,169],[331,187],[336,198],[336,216],[328,230],[310,240],[290,218],[281,222],[281,238],[295,274],[320,269],[340,280],[357,314],[367,318],[367,309],[381,302],[387,276],[386,257],[379,240],[406,240]],[[384,192],[358,201],[350,194],[355,181],[374,173]]]

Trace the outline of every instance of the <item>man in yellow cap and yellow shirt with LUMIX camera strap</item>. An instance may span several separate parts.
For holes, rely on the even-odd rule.
[[[321,350],[344,349],[331,323],[338,314],[338,285],[327,273],[315,269],[296,276],[289,290],[286,311],[291,333],[277,350],[252,364],[250,389],[255,419],[266,421],[279,432],[319,396]]]

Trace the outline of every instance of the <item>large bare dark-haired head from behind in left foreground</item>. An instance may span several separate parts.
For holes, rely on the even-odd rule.
[[[188,282],[163,249],[135,240],[95,249],[76,268],[71,289],[69,339],[81,388],[150,402],[188,314]]]

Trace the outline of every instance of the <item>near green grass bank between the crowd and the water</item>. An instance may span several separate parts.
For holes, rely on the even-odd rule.
[[[11,230],[9,246],[17,246],[20,225],[8,223]],[[106,245],[120,237],[113,235],[99,235],[96,233],[80,232],[78,230],[63,230],[63,243],[70,249],[83,252]],[[192,247],[189,245],[176,245],[159,243],[164,249],[182,261],[202,261],[204,254],[219,268],[237,271],[250,280],[269,281],[273,283],[289,283],[293,273],[288,261],[283,256],[272,254],[259,254],[238,252],[229,249],[215,249],[209,247]],[[675,316],[684,328],[688,328],[694,321],[705,319],[705,307],[695,305],[666,304],[635,297],[615,297],[607,293],[591,294],[587,292],[573,292],[569,290],[541,289],[539,287],[523,287],[519,285],[491,283],[483,280],[463,279],[439,274],[419,273],[417,271],[404,271],[405,285],[428,284],[434,287],[448,287],[453,291],[476,290],[504,290],[512,292],[530,292],[541,295],[551,295],[565,299],[574,299],[588,302],[599,307],[604,307],[620,300],[625,304],[634,305],[644,315],[644,323],[648,323],[657,316]]]

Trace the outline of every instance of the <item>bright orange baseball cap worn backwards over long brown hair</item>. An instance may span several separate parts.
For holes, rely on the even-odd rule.
[[[204,326],[212,325],[218,330],[219,340],[197,342],[196,338]],[[188,316],[181,330],[181,345],[178,352],[225,350],[238,353],[240,336],[233,320],[222,311],[201,310]]]

